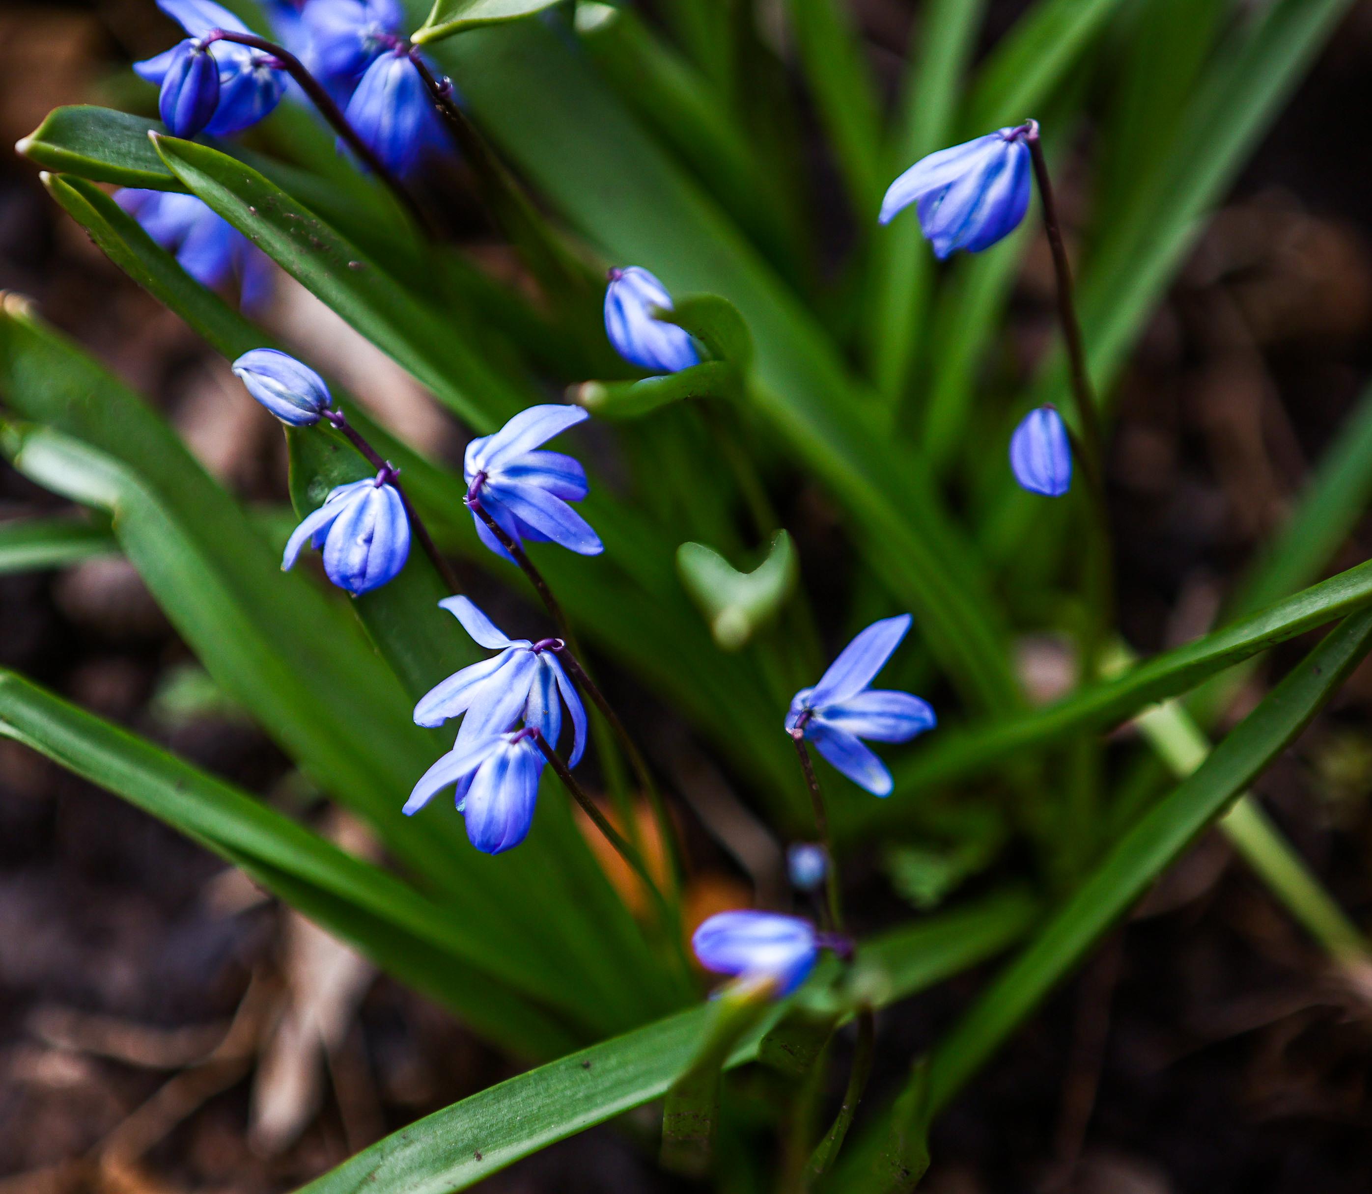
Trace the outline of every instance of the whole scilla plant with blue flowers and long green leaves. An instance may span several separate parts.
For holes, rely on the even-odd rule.
[[[727,1189],[914,1189],[933,1119],[1213,823],[1332,964],[1368,964],[1244,796],[1372,646],[1372,566],[1314,583],[1368,498],[1367,433],[1314,474],[1222,624],[1142,662],[1115,631],[1104,484],[1132,344],[1349,0],[1039,0],[980,62],[986,5],[925,0],[892,110],[840,0],[672,0],[656,19],[587,0],[159,4],[180,32],[136,67],[141,112],[59,108],[19,151],[281,421],[296,529],[269,541],[16,295],[4,450],[96,511],[81,533],[113,539],[394,869],[12,673],[0,731],[530,1067],[310,1189],[464,1189],[645,1105],[660,1164]],[[804,184],[803,111],[842,211]],[[1074,254],[1052,186],[1067,159],[1093,202]],[[521,285],[445,234],[445,188],[468,185]],[[978,366],[1039,237],[1059,348],[1002,392]],[[822,281],[836,240],[848,269]],[[281,351],[269,262],[468,429],[462,459]],[[805,539],[785,533],[801,491],[852,561],[818,620]],[[23,535],[30,563],[70,558],[69,522]],[[464,592],[476,569],[527,598],[508,629]],[[1044,628],[1074,640],[1077,680],[1032,707],[1014,636]],[[1316,628],[1211,751],[1240,673]],[[771,827],[756,906],[691,923],[691,780],[635,691]],[[1147,781],[1150,751],[1174,785]],[[627,895],[587,833],[623,857]],[[971,839],[996,877],[974,898],[947,880],[907,924],[845,886],[874,843]],[[927,1051],[881,1053],[868,1093],[884,1009],[1007,951]],[[712,999],[707,975],[727,976]],[[745,1067],[768,1076],[731,1114]]]

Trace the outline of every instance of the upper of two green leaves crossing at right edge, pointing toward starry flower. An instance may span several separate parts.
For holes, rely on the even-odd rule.
[[[877,824],[892,816],[888,810],[899,809],[903,794],[985,773],[1018,751],[1062,742],[1084,729],[1107,729],[1146,705],[1185,692],[1224,668],[1368,605],[1372,605],[1372,562],[1155,655],[1124,676],[1093,684],[1047,709],[977,729],[930,735],[926,746],[895,768],[893,799],[881,806],[859,806],[853,824]]]

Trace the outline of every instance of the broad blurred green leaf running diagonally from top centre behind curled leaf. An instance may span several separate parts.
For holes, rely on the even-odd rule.
[[[738,307],[757,350],[752,406],[844,504],[873,568],[963,694],[1017,706],[1006,629],[975,552],[823,330],[737,230],[538,22],[475,30],[436,52],[482,127],[609,259],[652,269],[674,293]]]

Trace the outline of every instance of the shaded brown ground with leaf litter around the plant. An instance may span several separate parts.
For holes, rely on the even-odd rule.
[[[899,26],[900,7],[871,5],[877,41]],[[75,10],[0,11],[0,140],[84,96],[121,48],[144,49],[136,10],[104,10],[122,47]],[[1205,625],[1368,377],[1369,71],[1372,5],[1362,4],[1207,234],[1124,388],[1111,483],[1125,628],[1140,648]],[[0,159],[0,285],[34,295],[49,318],[166,403],[241,492],[281,496],[270,422],[229,402],[193,337],[62,222],[34,173],[10,158]],[[1030,273],[1018,329],[1026,343],[1037,334],[1039,293]],[[5,469],[0,503],[11,517],[52,499]],[[1365,541],[1354,543],[1343,562],[1365,555]],[[289,785],[265,738],[232,713],[188,703],[185,684],[173,683],[185,679],[185,648],[122,563],[0,577],[0,663],[321,814]],[[1372,912],[1369,699],[1364,672],[1259,788],[1362,921]],[[944,1117],[927,1189],[1369,1189],[1367,1005],[1325,975],[1218,840],[1181,864],[1146,912]],[[295,1050],[306,1058],[300,1080],[324,1091],[321,1109],[294,1142],[273,1147],[261,1102],[273,1091],[288,1104],[309,1099],[291,1094],[289,1076],[263,1077],[257,1057],[262,1042],[281,1042],[277,1017],[310,994],[300,968],[318,973],[320,957],[338,961],[327,946],[311,953],[320,947],[184,839],[0,740],[0,1175],[15,1175],[4,1194],[283,1190],[506,1073],[443,1013],[355,973],[329,988],[342,1028],[328,1080],[318,1046]],[[874,1090],[899,1080],[981,977],[884,1017],[888,1061]],[[99,1169],[81,1161],[93,1156]],[[1062,1184],[1065,1160],[1077,1164]],[[664,1184],[624,1138],[600,1131],[491,1189]]]

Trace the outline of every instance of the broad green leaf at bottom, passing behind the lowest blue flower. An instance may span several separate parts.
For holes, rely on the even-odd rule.
[[[884,1001],[893,1002],[1004,949],[1034,910],[1019,894],[989,897],[866,943],[862,957],[889,976]],[[310,1194],[465,1190],[520,1157],[661,1098],[694,1057],[709,1010],[691,1008],[493,1086],[387,1136],[303,1189]],[[752,1061],[770,1027],[763,1021],[753,1029],[727,1065]]]

